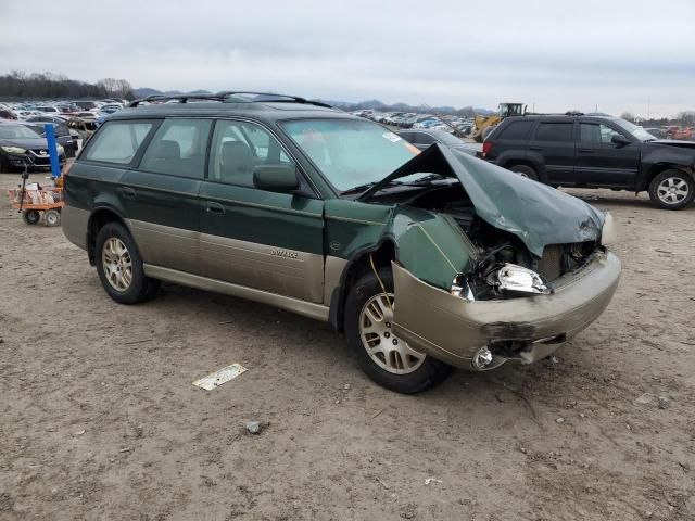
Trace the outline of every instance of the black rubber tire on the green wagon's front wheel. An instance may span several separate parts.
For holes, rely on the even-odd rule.
[[[393,275],[391,274],[391,269],[381,268],[378,272],[387,292],[393,292]],[[359,319],[365,304],[379,294],[383,294],[383,291],[374,272],[370,270],[361,277],[350,289],[345,302],[345,336],[362,369],[374,382],[396,393],[419,393],[441,383],[451,373],[452,367],[431,356],[426,356],[417,369],[406,374],[390,372],[377,365],[369,356],[362,342]]]

